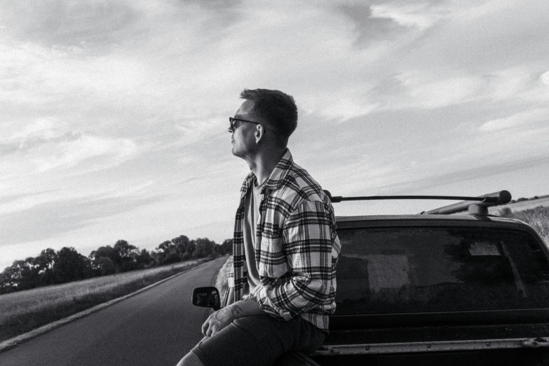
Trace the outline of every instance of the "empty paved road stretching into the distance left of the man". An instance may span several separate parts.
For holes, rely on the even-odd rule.
[[[201,338],[210,309],[191,304],[227,257],[0,353],[2,366],[171,365]]]

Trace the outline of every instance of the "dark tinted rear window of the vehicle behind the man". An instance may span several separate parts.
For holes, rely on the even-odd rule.
[[[548,262],[527,233],[391,228],[338,234],[337,314],[548,307]]]

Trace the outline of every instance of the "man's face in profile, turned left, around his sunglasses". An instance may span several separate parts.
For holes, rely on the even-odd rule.
[[[245,100],[234,114],[234,118],[240,118],[247,121],[255,121],[259,123],[258,116],[254,113],[254,102]],[[255,133],[257,125],[255,123],[235,121],[234,128],[228,129],[231,133],[231,142],[233,144],[233,155],[239,158],[244,158],[250,153],[257,150],[255,142]]]

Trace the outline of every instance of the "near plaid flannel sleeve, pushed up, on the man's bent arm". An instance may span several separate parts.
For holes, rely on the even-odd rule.
[[[315,309],[330,294],[332,275],[332,210],[322,201],[305,201],[283,226],[289,280],[260,285],[259,307],[274,318],[290,320]]]

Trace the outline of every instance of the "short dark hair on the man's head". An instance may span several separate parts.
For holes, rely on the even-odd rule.
[[[254,102],[254,111],[287,140],[297,127],[294,97],[280,90],[244,89],[240,98]]]

